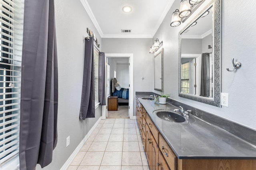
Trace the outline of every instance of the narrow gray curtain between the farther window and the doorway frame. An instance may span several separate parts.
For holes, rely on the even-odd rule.
[[[106,105],[105,94],[105,53],[99,53],[99,100],[100,105]]]

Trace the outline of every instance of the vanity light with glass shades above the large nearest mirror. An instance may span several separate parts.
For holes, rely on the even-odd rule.
[[[183,21],[185,21],[186,17],[190,16],[202,2],[204,2],[204,0],[181,0],[180,10],[177,9],[172,13],[171,27],[179,26],[181,19],[183,18]]]

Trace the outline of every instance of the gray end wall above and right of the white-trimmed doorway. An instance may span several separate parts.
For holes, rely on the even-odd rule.
[[[104,44],[102,51],[105,53],[133,53],[134,94],[154,89],[153,58],[149,53],[152,43],[153,40],[150,38],[102,38],[102,44]],[[134,106],[136,106],[135,102]]]

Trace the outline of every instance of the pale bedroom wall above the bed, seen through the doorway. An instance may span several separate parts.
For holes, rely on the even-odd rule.
[[[116,79],[122,88],[129,88],[129,63],[116,64]]]

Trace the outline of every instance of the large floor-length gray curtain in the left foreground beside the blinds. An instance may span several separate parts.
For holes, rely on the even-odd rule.
[[[57,144],[58,66],[54,0],[25,0],[20,170],[52,162]]]

